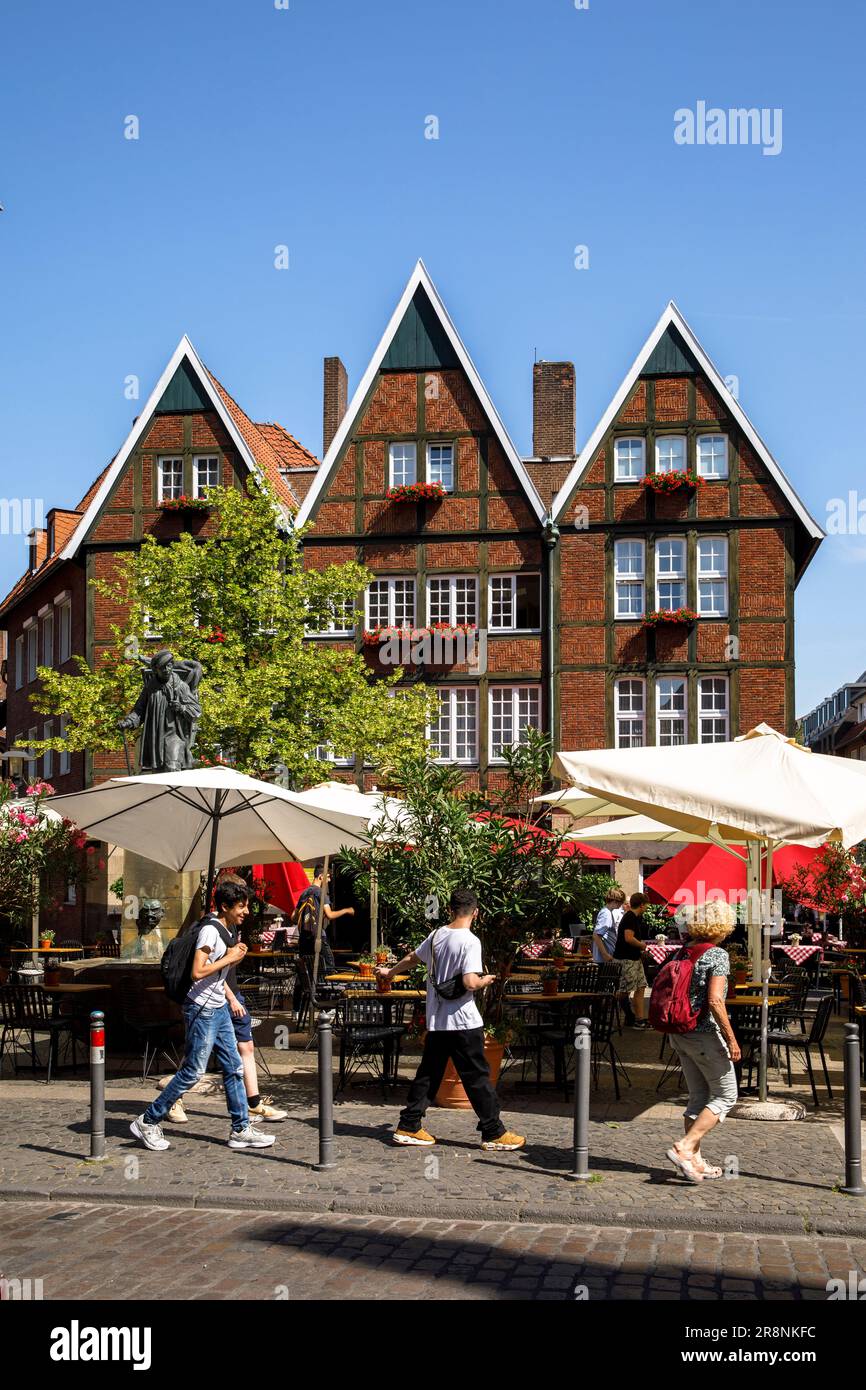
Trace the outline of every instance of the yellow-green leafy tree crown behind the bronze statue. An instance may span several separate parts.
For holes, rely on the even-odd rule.
[[[274,496],[211,489],[214,537],[153,537],[120,556],[95,588],[118,616],[96,670],[79,657],[75,674],[39,669],[35,706],[64,713],[67,735],[35,748],[122,748],[117,720],[140,692],[142,655],[167,646],[202,662],[202,721],[196,756],[225,760],[253,776],[282,767],[293,785],[321,781],[316,759],[354,755],[386,767],[398,753],[425,748],[430,692],[396,691],[399,671],[374,678],[353,646],[304,641],[354,606],[371,575],[360,564],[303,567],[297,534],[278,524]],[[158,634],[158,639],[153,639]]]

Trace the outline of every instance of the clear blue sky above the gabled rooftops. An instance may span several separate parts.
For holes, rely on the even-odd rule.
[[[535,354],[574,360],[582,443],[676,299],[824,523],[863,475],[865,31],[852,0],[7,6],[0,493],[75,503],[183,332],[318,450],[322,356],[353,386],[423,256],[523,450]],[[701,100],[781,108],[781,153],[674,143]],[[22,560],[0,535],[3,591]],[[801,713],[866,666],[865,575],[834,535],[801,584]]]

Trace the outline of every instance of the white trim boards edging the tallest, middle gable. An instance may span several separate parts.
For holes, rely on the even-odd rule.
[[[297,513],[297,525],[303,525],[304,521],[310,520],[313,507],[318,502],[320,496],[325,492],[334,464],[336,463],[336,459],[339,457],[339,453],[352,432],[357,416],[360,414],[360,409],[364,404],[364,400],[367,399],[367,392],[373,385],[373,381],[375,378],[377,371],[379,370],[385,353],[391,348],[391,343],[393,341],[398,328],[403,322],[403,316],[406,314],[406,310],[411,303],[411,297],[418,286],[423,286],[427,291],[434,311],[439,322],[442,324],[448,335],[448,339],[452,348],[455,349],[455,353],[457,354],[457,360],[463,367],[463,371],[466,373],[475,395],[478,396],[478,400],[481,402],[484,413],[487,414],[488,420],[493,427],[493,431],[496,434],[496,438],[499,439],[499,443],[502,445],[506,459],[509,460],[509,463],[512,464],[514,473],[520,480],[520,484],[527,495],[527,500],[532,507],[532,512],[535,513],[538,520],[544,523],[545,518],[544,503],[538,496],[538,492],[535,491],[532,480],[527,473],[525,464],[520,457],[520,455],[517,453],[517,449],[512,443],[512,439],[509,436],[507,430],[505,428],[505,424],[502,423],[499,411],[496,410],[493,402],[488,396],[487,388],[481,381],[481,377],[478,375],[478,370],[473,363],[473,359],[470,357],[468,352],[466,350],[460,334],[455,328],[450,316],[439,297],[436,286],[434,285],[432,279],[427,272],[424,261],[420,260],[416,263],[416,267],[411,275],[409,277],[406,289],[400,295],[398,307],[391,316],[388,327],[379,339],[378,348],[375,349],[373,357],[370,359],[367,370],[359,382],[357,391],[352,396],[352,402],[349,404],[349,409],[346,410],[346,414],[341,421],[339,430],[336,431],[334,439],[331,441],[331,448],[328,449],[325,457],[322,459],[316,482],[307,492],[300,506],[300,510]]]

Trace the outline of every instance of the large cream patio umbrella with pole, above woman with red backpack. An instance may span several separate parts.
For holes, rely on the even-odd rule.
[[[812,753],[767,724],[728,744],[676,748],[605,748],[557,753],[553,771],[587,798],[609,798],[674,830],[714,844],[749,847],[749,888],[759,884],[766,852],[767,891],[773,851],[784,844],[847,848],[866,838],[866,766]],[[749,892],[753,909],[755,894]],[[758,960],[755,923],[751,947]],[[763,981],[760,1099],[766,1099],[769,923],[760,952]]]

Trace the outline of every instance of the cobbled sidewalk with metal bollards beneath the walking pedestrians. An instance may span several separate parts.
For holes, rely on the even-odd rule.
[[[272,1126],[274,1148],[227,1148],[220,1095],[188,1097],[189,1125],[165,1126],[171,1150],[152,1154],[135,1143],[129,1122],[153,1094],[135,1081],[111,1084],[104,1163],[88,1154],[83,1081],[0,1083],[0,1195],[51,1197],[293,1212],[357,1212],[438,1219],[578,1222],[649,1229],[780,1232],[866,1236],[866,1198],[834,1190],[844,1172],[834,1126],[813,1116],[798,1123],[728,1120],[706,1145],[708,1159],[737,1176],[683,1183],[664,1158],[681,1129],[681,1111],[637,1090],[619,1105],[594,1108],[592,1180],[569,1179],[571,1115],[564,1102],[534,1091],[505,1091],[506,1122],[527,1134],[518,1154],[482,1154],[471,1113],[434,1109],[434,1150],[391,1144],[396,1105],[381,1093],[352,1090],[335,1106],[336,1168],[316,1172],[316,1108],[309,1073],[270,1084],[289,1119]],[[644,1108],[641,1108],[644,1106]],[[616,1116],[616,1118],[613,1118]],[[14,1118],[8,1123],[8,1118]]]

